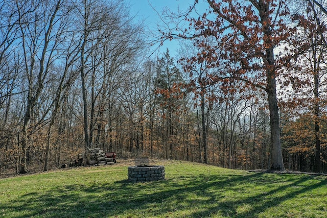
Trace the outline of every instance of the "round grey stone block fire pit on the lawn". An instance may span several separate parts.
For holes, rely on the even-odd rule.
[[[143,182],[165,179],[165,166],[129,166],[128,181]]]

